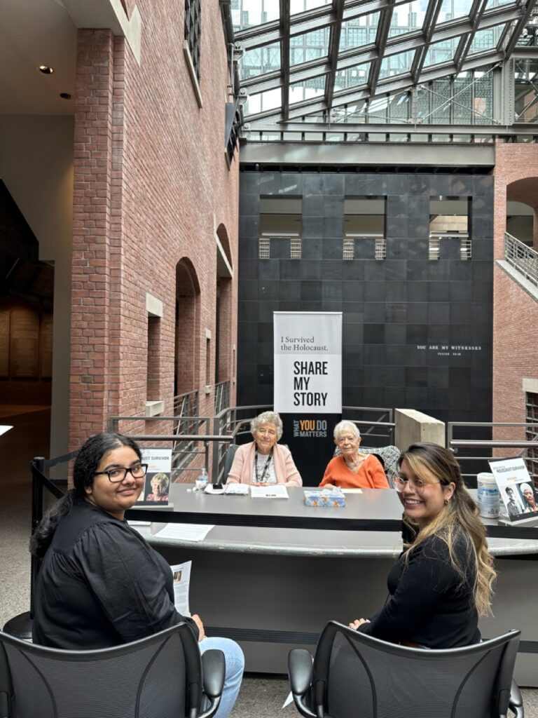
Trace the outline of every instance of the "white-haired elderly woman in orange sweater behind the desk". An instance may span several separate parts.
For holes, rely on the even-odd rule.
[[[339,486],[344,489],[390,488],[381,462],[374,454],[359,451],[361,432],[353,421],[339,421],[334,427],[334,443],[340,456],[327,464],[320,486]]]

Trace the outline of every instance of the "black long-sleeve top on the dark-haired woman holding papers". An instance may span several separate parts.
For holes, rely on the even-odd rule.
[[[44,556],[35,589],[34,643],[108,648],[187,621],[174,607],[169,564],[134,531],[77,501]]]

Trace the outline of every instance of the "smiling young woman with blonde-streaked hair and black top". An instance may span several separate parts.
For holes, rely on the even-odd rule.
[[[395,488],[414,540],[392,568],[384,607],[350,623],[391,643],[456,648],[478,643],[495,579],[486,531],[453,454],[412,444],[398,460]]]

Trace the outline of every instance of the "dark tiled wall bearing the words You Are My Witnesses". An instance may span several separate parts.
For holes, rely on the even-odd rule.
[[[260,195],[302,198],[302,258],[258,259]],[[344,198],[387,197],[387,258],[342,260]],[[430,196],[472,197],[472,259],[428,259]],[[241,173],[237,404],[273,402],[273,312],[343,312],[344,406],[491,420],[493,178],[462,174]]]

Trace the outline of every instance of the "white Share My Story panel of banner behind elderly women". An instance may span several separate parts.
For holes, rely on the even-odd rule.
[[[274,312],[274,406],[280,414],[341,414],[341,312]]]

